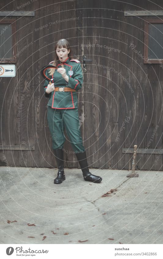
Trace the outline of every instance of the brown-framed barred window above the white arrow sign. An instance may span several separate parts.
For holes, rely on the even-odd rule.
[[[0,62],[16,63],[15,54],[15,20],[0,21]]]

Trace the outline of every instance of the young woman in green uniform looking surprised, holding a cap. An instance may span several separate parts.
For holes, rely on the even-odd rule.
[[[85,148],[79,129],[77,91],[82,87],[83,72],[80,61],[72,59],[69,42],[59,40],[54,49],[54,61],[51,65],[57,67],[46,70],[46,76],[52,84],[45,80],[44,92],[49,98],[47,104],[47,120],[52,136],[52,148],[57,157],[58,173],[54,183],[65,180],[64,173],[64,130],[66,128],[69,141],[79,161],[85,181],[99,183],[100,176],[89,172]],[[51,76],[51,77],[50,77]]]

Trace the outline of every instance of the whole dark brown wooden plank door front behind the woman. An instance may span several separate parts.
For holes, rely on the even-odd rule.
[[[6,5],[4,0],[1,2]],[[14,10],[15,6],[21,4],[21,0],[11,2],[2,10]],[[162,2],[157,1],[157,4],[161,10]],[[57,167],[47,123],[48,99],[44,96],[44,80],[40,76],[40,69],[54,60],[55,42],[60,38],[67,38],[81,64],[83,55],[92,59],[92,62],[86,63],[83,88],[78,92],[79,116],[85,117],[80,129],[88,165],[94,168],[131,169],[131,147],[136,143],[138,150],[135,170],[162,170],[163,69],[159,63],[143,63],[143,58],[130,47],[133,43],[142,56],[147,56],[146,49],[144,52],[144,43],[147,44],[148,40],[144,40],[144,23],[161,20],[151,21],[145,17],[144,21],[138,16],[124,17],[124,9],[155,8],[155,5],[147,0],[132,0],[130,3],[110,0],[58,3],[56,0],[40,0],[23,9],[35,11],[35,16],[15,16],[15,54],[28,43],[32,44],[17,55],[16,76],[0,78],[0,144],[11,145],[8,150],[1,149],[0,153],[1,156],[5,154],[10,166]],[[70,17],[80,18],[35,30],[51,21]],[[11,18],[6,20],[12,21]],[[148,32],[147,25],[145,30]],[[95,46],[83,47],[82,44]],[[106,49],[104,45],[120,51]],[[22,95],[24,100],[20,112],[19,132],[17,114]],[[130,119],[124,123],[126,116]],[[123,123],[125,128],[120,131]],[[159,127],[148,147],[156,125]],[[121,133],[116,142],[119,132]],[[65,136],[67,137],[66,131]],[[13,150],[12,146],[35,146],[35,150]],[[142,156],[141,151],[146,147],[148,149]],[[68,139],[64,148],[65,151],[73,151]],[[127,153],[126,149],[129,149]],[[80,168],[75,154],[65,152],[65,167]]]

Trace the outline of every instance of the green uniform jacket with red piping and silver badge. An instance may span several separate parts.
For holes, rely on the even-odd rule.
[[[50,62],[50,63],[53,63]],[[50,76],[48,74],[48,70],[46,70],[46,76],[49,78],[53,78],[52,83],[54,83],[54,87],[70,87],[78,91],[83,84],[83,71],[80,64],[80,61],[77,59],[70,59],[69,57],[62,63],[66,70],[66,75],[69,77],[69,82],[65,81],[65,79],[61,76],[57,70],[55,70],[54,74]],[[61,62],[59,60],[59,64],[57,67],[62,67]],[[44,83],[44,92],[46,91],[47,85],[49,84],[48,80],[45,80]],[[77,92],[59,92],[52,91],[50,94],[45,92],[45,96],[49,98],[48,106],[56,109],[74,109],[78,108],[78,97]]]

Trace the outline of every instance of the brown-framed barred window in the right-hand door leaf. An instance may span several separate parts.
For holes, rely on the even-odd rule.
[[[144,63],[163,62],[163,21],[149,19],[144,22]]]

